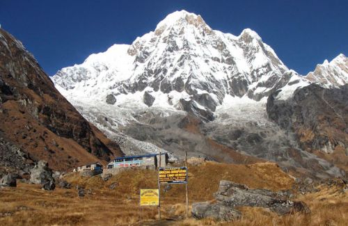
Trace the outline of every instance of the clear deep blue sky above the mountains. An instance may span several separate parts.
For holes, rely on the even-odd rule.
[[[0,0],[0,24],[49,74],[111,45],[131,44],[175,10],[200,14],[212,29],[256,31],[287,67],[307,74],[348,54],[348,1]]]

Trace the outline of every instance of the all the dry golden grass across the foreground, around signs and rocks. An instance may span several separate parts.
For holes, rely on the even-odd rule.
[[[161,191],[161,216],[157,207],[143,207],[140,222],[139,189],[157,188],[157,173],[152,170],[129,170],[103,181],[101,177],[67,175],[72,184],[84,186],[85,197],[77,197],[77,190],[56,188],[42,191],[39,186],[18,184],[17,188],[0,190],[0,225],[230,225],[214,220],[182,220],[186,214],[184,185],[173,185]],[[219,180],[229,179],[251,188],[287,189],[293,180],[274,163],[228,165],[204,163],[189,167],[190,203],[212,200]],[[117,182],[115,190],[110,184]],[[91,188],[92,194],[87,194]],[[342,189],[341,189],[342,190]],[[323,186],[319,193],[302,195],[312,213],[278,216],[260,208],[242,207],[243,217],[233,225],[345,225],[348,220],[347,194]],[[191,208],[190,208],[191,211]]]

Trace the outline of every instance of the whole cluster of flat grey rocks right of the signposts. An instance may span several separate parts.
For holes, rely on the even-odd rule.
[[[235,207],[263,207],[278,214],[310,213],[310,209],[303,202],[285,199],[287,193],[283,191],[250,189],[244,184],[236,184],[232,181],[220,181],[219,190],[214,193],[214,197],[217,201],[215,204],[193,203],[193,217],[231,221],[241,216],[241,213],[234,209]]]

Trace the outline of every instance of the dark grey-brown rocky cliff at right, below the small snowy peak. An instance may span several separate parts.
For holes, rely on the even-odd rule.
[[[341,153],[331,161],[347,169],[348,85],[329,89],[311,84],[296,90],[289,99],[279,99],[279,92],[268,98],[269,118],[294,131],[303,150]]]

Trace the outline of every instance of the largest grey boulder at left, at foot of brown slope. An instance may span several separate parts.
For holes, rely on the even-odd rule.
[[[30,182],[33,184],[42,184],[42,188],[45,190],[54,190],[54,178],[53,172],[48,167],[47,161],[39,161],[30,174]]]

